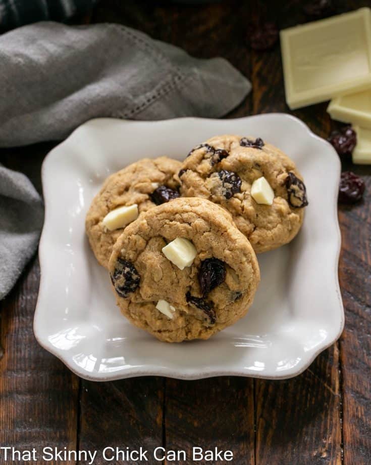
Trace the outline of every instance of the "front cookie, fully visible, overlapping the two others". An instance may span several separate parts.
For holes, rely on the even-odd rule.
[[[109,270],[122,313],[166,342],[208,339],[235,323],[260,278],[230,214],[201,198],[143,213],[118,238]]]

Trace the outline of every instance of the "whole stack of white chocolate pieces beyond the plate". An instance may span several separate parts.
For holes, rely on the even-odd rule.
[[[357,133],[353,163],[371,163],[371,10],[284,29],[281,50],[289,107],[332,99],[331,117]]]

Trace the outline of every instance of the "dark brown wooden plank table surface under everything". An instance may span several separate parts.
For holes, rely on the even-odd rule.
[[[367,0],[335,3],[338,12],[369,6]],[[141,29],[196,57],[225,57],[252,82],[248,98],[228,117],[289,112],[327,137],[336,127],[327,103],[294,112],[286,106],[279,45],[270,52],[250,51],[248,24],[263,17],[280,28],[307,21],[300,2],[293,0],[207,6],[105,0],[90,21]],[[3,149],[0,161],[29,176],[41,192],[40,165],[54,145]],[[236,464],[370,464],[371,167],[345,163],[343,168],[362,175],[367,189],[359,204],[339,207],[345,329],[304,373],[287,381],[227,376],[189,382],[164,377],[83,381],[35,341],[40,277],[35,256],[0,302],[0,446],[152,450],[164,445],[186,451],[218,446],[231,449]]]

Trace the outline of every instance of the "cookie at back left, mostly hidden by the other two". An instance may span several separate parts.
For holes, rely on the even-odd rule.
[[[108,267],[112,247],[141,212],[179,197],[181,163],[168,157],[144,158],[107,178],[86,215],[86,233],[100,265]]]

